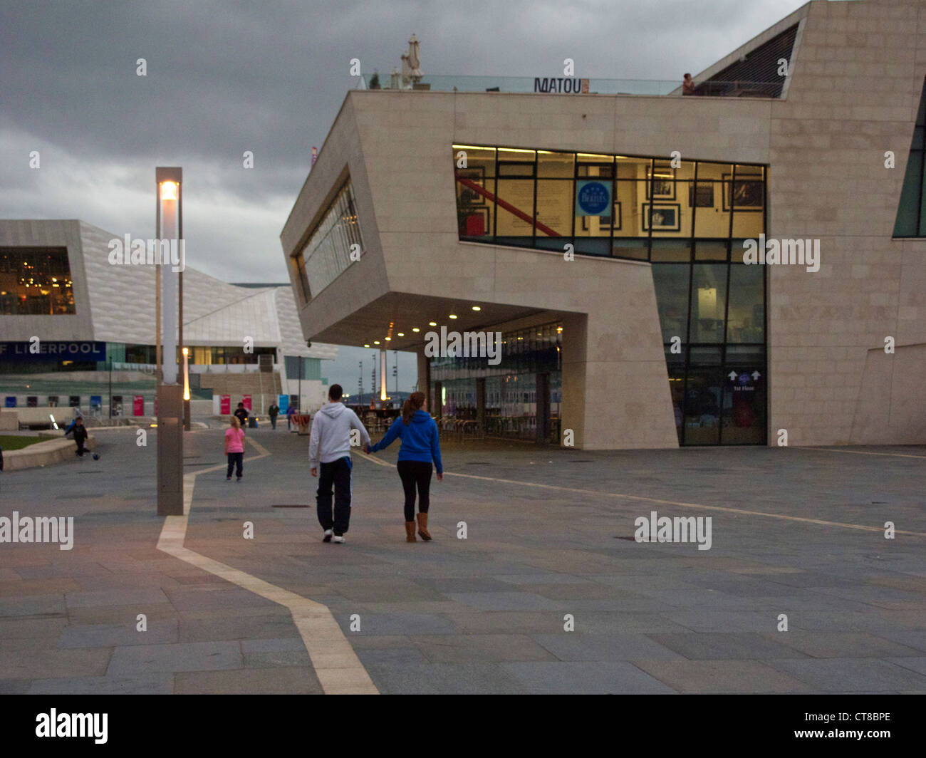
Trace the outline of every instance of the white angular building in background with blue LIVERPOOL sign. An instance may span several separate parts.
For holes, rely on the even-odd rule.
[[[7,396],[4,375],[67,372],[87,382],[110,366],[125,381],[154,372],[155,269],[110,262],[110,242],[123,236],[78,220],[0,220]],[[194,263],[195,252],[187,253]],[[244,394],[262,396],[254,397],[257,412],[280,394],[304,409],[325,401],[321,361],[336,359],[338,348],[307,347],[288,283],[228,284],[187,265],[182,328],[191,385],[231,394],[232,407]],[[30,350],[35,337],[38,353]]]

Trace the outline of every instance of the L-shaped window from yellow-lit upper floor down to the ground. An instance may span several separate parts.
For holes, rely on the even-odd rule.
[[[558,251],[569,243],[577,255],[649,261],[679,443],[766,444],[765,267],[743,263],[744,240],[766,231],[766,166],[453,152],[460,240]],[[462,380],[447,379],[449,397],[469,408],[474,388],[457,397],[451,383]]]

